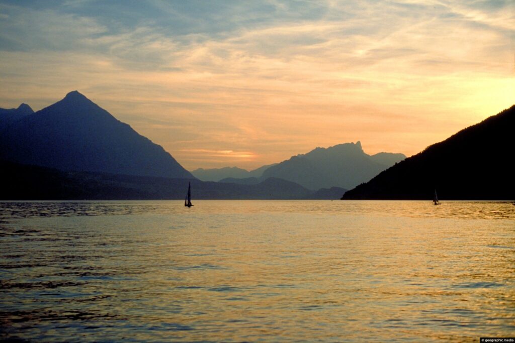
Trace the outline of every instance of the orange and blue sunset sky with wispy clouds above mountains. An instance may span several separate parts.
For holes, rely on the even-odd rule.
[[[512,0],[0,0],[0,107],[78,90],[188,170],[410,156],[513,105],[514,76]]]

